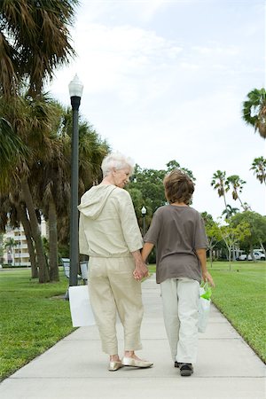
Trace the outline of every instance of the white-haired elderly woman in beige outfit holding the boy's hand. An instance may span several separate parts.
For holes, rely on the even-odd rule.
[[[143,304],[140,280],[147,273],[140,249],[143,240],[129,192],[134,164],[121,153],[102,162],[103,181],[82,196],[80,253],[90,256],[89,291],[103,351],[110,356],[109,371],[122,366],[146,368],[139,359]],[[116,313],[124,328],[124,356],[118,355]]]

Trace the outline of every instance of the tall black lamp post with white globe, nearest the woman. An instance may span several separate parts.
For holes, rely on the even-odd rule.
[[[69,286],[77,286],[79,267],[78,239],[78,183],[79,183],[79,107],[83,85],[77,74],[68,85],[73,114],[71,146],[71,200],[70,200],[70,274]]]

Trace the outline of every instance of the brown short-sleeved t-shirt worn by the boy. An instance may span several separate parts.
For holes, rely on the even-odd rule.
[[[203,219],[193,207],[166,205],[153,215],[145,242],[156,246],[156,282],[167,278],[201,281],[196,249],[207,247]]]

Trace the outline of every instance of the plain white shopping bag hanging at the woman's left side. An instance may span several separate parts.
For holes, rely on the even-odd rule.
[[[70,286],[68,293],[73,326],[95,325],[88,286]]]

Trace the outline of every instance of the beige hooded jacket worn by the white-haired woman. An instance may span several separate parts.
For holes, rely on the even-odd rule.
[[[129,192],[113,184],[93,186],[82,196],[78,209],[81,254],[123,257],[142,248]]]

